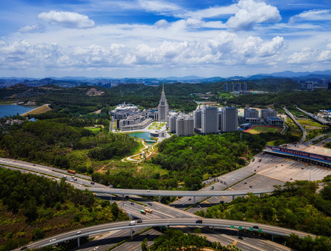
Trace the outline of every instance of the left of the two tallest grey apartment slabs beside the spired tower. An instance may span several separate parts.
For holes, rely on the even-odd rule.
[[[204,107],[201,109],[201,133],[218,133],[218,107]]]

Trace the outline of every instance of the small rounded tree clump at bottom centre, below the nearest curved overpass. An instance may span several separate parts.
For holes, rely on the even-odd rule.
[[[224,247],[220,243],[210,243],[206,237],[198,234],[184,234],[179,229],[167,229],[162,235],[154,240],[151,248],[146,248],[146,241],[141,244],[141,251],[168,251],[168,250],[188,250],[197,251],[203,248],[213,248],[220,251],[237,251],[234,246]]]

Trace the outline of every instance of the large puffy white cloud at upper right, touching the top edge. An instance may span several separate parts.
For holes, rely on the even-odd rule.
[[[255,24],[282,20],[278,9],[264,1],[240,0],[238,7],[240,10],[226,22],[226,25],[233,30],[249,30]]]

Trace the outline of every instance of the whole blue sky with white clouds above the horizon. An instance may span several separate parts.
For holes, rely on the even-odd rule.
[[[4,0],[0,77],[330,70],[330,0]]]

